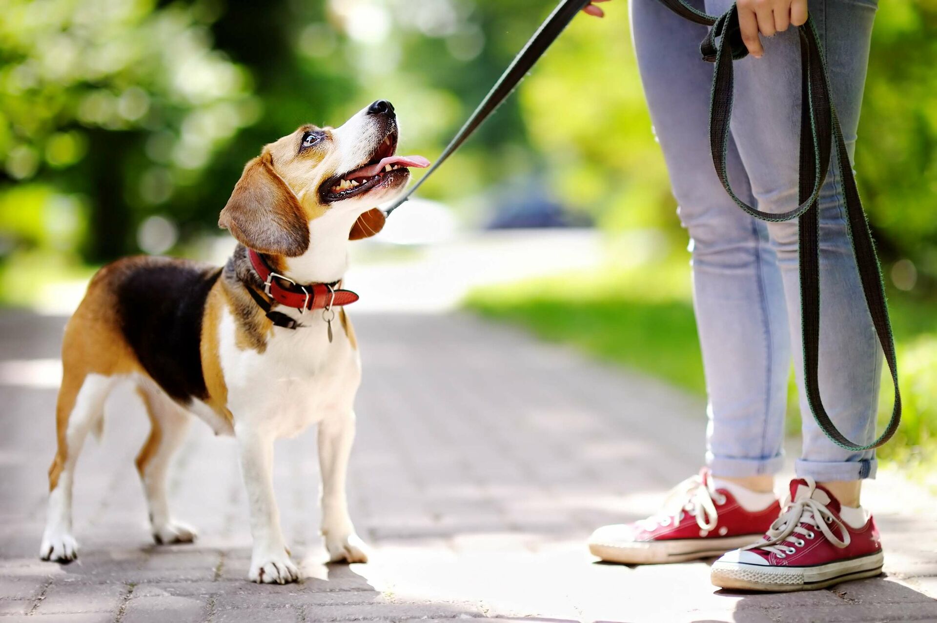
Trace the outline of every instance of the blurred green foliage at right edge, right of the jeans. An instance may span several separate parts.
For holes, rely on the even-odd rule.
[[[937,277],[937,2],[879,5],[855,147],[857,181],[889,256]]]

